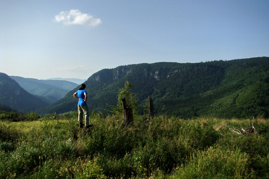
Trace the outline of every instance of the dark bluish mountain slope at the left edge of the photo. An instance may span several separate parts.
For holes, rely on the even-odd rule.
[[[49,104],[24,90],[15,80],[0,73],[0,104],[20,112],[31,112]]]

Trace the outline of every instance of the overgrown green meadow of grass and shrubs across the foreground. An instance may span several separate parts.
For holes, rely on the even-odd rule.
[[[97,113],[78,140],[76,113],[0,119],[0,179],[269,178],[267,119],[135,116],[125,127]]]

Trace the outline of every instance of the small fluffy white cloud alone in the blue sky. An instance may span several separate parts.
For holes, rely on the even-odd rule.
[[[55,16],[56,22],[62,22],[65,25],[87,25],[89,27],[95,27],[101,24],[100,18],[94,18],[93,16],[85,13],[81,13],[78,9],[72,9],[68,11],[62,11]]]

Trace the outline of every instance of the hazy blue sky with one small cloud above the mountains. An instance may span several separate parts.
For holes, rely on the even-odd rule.
[[[269,0],[0,2],[0,72],[10,76],[259,56],[269,56]]]

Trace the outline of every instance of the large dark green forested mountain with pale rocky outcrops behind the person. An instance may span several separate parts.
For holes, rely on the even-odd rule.
[[[201,63],[158,62],[132,64],[103,69],[91,75],[85,84],[91,111],[116,105],[117,93],[124,82],[131,82],[138,94],[140,112],[148,95],[155,114],[182,118],[212,115],[215,117],[268,117],[269,58],[257,57]],[[63,113],[77,110],[72,94],[77,88],[42,112]]]

